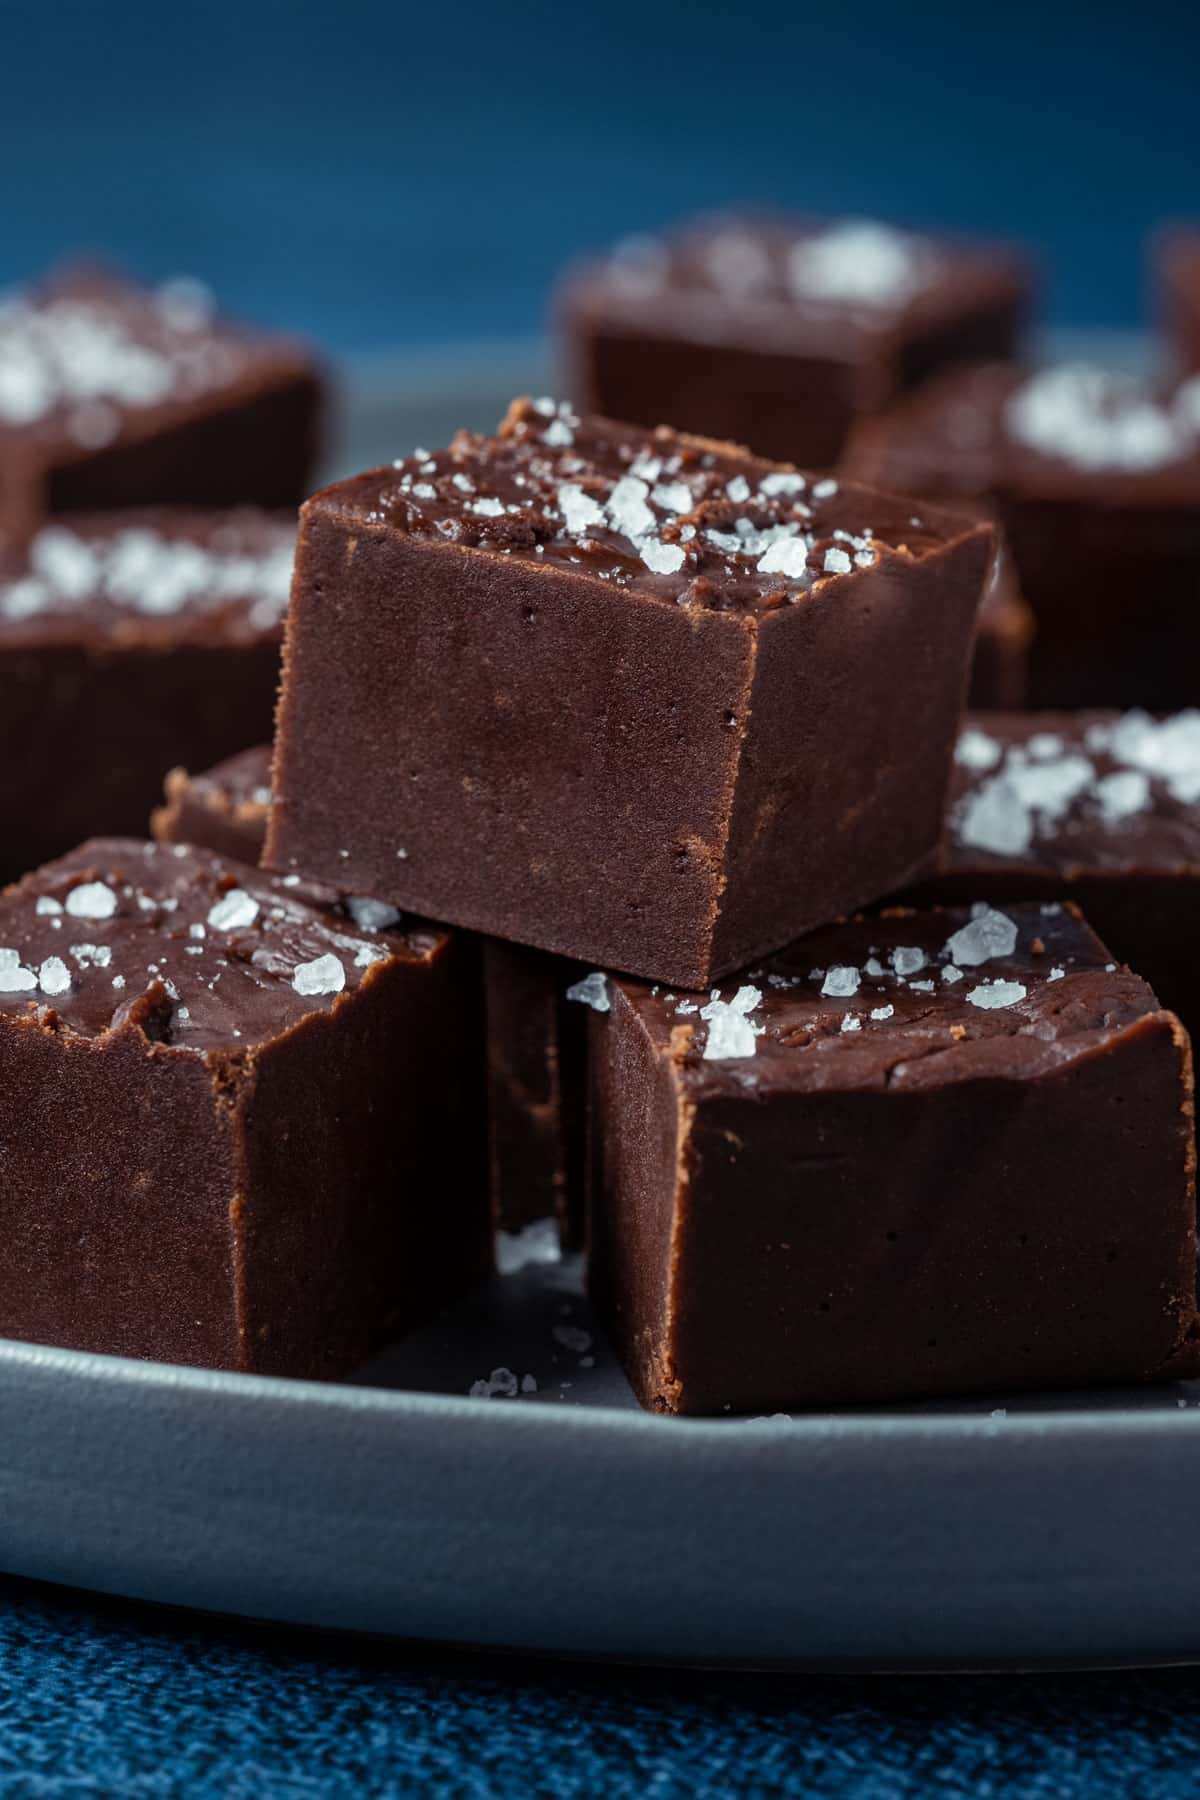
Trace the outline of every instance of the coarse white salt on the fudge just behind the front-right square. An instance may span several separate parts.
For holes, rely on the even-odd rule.
[[[955,846],[1020,857],[1069,815],[1119,826],[1153,810],[1155,783],[1180,806],[1200,801],[1200,709],[1164,720],[1132,711],[1112,724],[1092,724],[1085,751],[1092,754],[1052,733],[1004,745],[984,725],[968,725],[955,758],[982,779],[952,812]],[[1094,761],[1099,756],[1123,767],[1101,776]]]

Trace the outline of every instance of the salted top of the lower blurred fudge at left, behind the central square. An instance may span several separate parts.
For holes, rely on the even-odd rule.
[[[293,556],[293,520],[254,508],[76,515],[0,558],[0,643],[275,637]]]

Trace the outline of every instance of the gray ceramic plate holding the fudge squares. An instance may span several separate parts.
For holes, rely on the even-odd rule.
[[[360,369],[338,461],[542,385],[520,346]],[[504,1251],[509,1273],[340,1388],[0,1343],[0,1566],[587,1656],[1200,1660],[1200,1386],[651,1418],[578,1267],[545,1233]]]

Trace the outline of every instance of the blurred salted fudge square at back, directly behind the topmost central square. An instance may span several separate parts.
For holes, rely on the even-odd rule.
[[[932,371],[1011,355],[1029,286],[1000,245],[725,216],[574,270],[558,315],[581,410],[822,468]]]

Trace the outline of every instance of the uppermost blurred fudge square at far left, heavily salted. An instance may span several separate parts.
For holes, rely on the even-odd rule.
[[[0,527],[128,506],[297,506],[320,412],[311,353],[219,317],[201,283],[67,270],[0,299]]]

